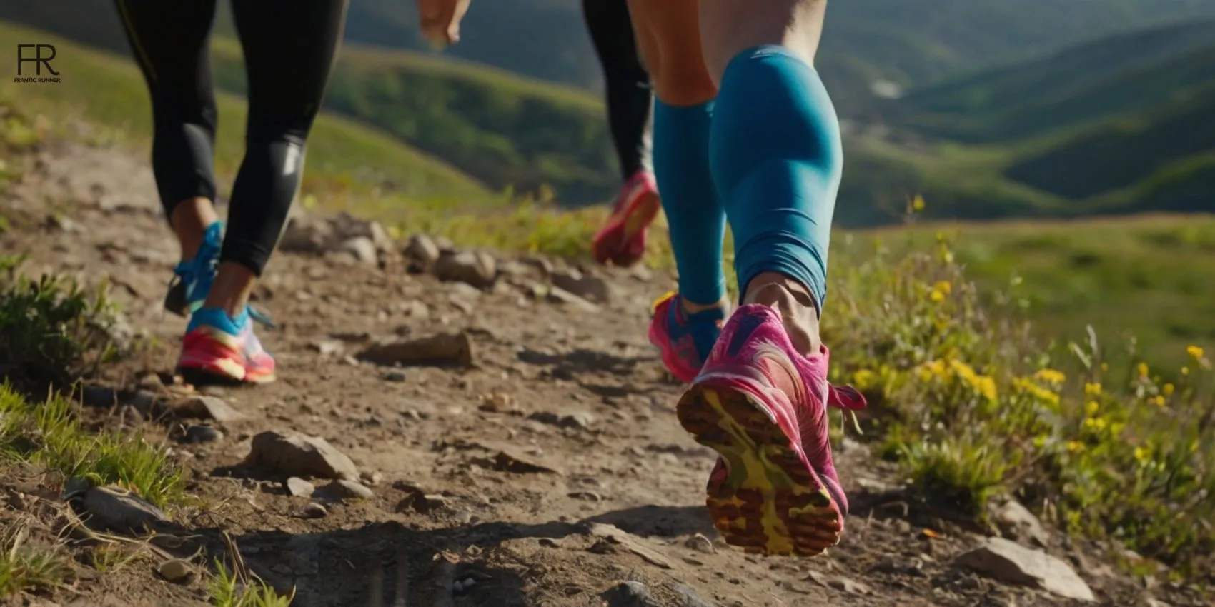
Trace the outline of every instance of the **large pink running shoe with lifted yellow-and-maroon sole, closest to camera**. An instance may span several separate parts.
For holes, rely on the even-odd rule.
[[[827,384],[827,361],[825,346],[797,353],[776,310],[742,306],[679,399],[684,430],[720,454],[706,505],[727,543],[798,556],[840,543],[848,498],[831,461],[827,405],[858,410],[865,398]]]

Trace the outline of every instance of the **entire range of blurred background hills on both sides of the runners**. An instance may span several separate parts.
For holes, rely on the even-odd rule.
[[[51,4],[0,0],[0,18],[129,57],[108,1]],[[1100,10],[1078,0],[1022,0],[1016,10],[852,0],[829,10],[820,70],[848,118],[842,225],[897,220],[916,193],[929,216],[974,220],[1215,209],[1215,0],[1107,0]],[[226,13],[216,30],[217,81],[241,92]],[[519,75],[593,85],[598,67],[578,51],[589,47],[575,2],[474,0],[464,40],[447,53],[515,74],[358,42],[420,47],[409,2],[354,0],[349,34],[328,109],[492,188],[554,186],[575,205],[612,194],[598,95]],[[906,91],[878,98],[877,80]]]

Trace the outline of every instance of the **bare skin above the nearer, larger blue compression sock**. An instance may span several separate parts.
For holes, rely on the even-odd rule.
[[[661,1],[661,0],[659,0]],[[700,0],[703,59],[714,83],[738,53],[780,45],[814,64],[827,0]]]

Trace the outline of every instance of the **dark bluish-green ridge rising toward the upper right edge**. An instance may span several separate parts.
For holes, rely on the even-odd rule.
[[[914,90],[888,120],[966,143],[1022,140],[1152,108],[1215,80],[1215,19],[1146,28]]]

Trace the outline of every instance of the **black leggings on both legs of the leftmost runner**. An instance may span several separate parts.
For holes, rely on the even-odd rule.
[[[215,0],[115,0],[152,93],[152,170],[166,217],[177,203],[215,200]],[[304,170],[345,28],[347,0],[232,0],[248,74],[245,153],[232,186],[220,259],[261,274]],[[403,10],[403,8],[402,8]]]

